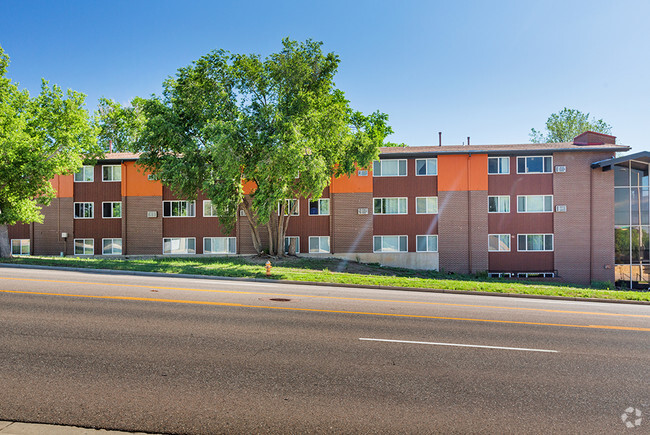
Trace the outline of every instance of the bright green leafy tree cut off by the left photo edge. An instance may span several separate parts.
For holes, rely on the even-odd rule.
[[[41,206],[56,195],[49,180],[79,169],[99,152],[85,96],[43,80],[31,98],[6,77],[0,47],[0,256],[11,255],[8,225],[42,222]]]

